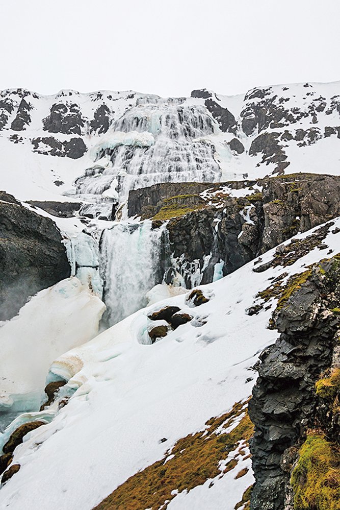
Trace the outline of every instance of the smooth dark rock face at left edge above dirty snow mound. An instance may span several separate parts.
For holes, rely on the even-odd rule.
[[[0,195],[0,320],[11,319],[39,290],[70,276],[55,223]]]

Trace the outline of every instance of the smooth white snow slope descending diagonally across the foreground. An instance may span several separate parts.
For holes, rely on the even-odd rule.
[[[338,227],[339,219],[319,248],[285,268],[254,272],[250,262],[201,286],[208,301],[199,306],[193,306],[189,293],[153,304],[57,358],[47,380],[66,378],[66,388],[75,393],[60,409],[58,402],[52,404],[51,423],[25,436],[15,449],[13,463],[21,467],[1,489],[1,507],[90,510],[166,452],[171,463],[177,440],[203,431],[206,420],[249,397],[255,377],[251,367],[277,338],[267,329],[275,299],[259,313],[247,312],[258,302],[257,293],[282,273],[283,285],[330,250],[339,252]],[[261,265],[265,268],[274,255],[271,250],[262,256]],[[165,306],[178,306],[192,320],[151,345],[148,331],[164,321],[148,315]],[[245,466],[249,470],[249,462]],[[221,471],[188,494],[177,496],[174,485],[169,508],[232,510],[252,481],[251,471],[234,480],[237,471]],[[230,491],[227,500],[225,490]]]

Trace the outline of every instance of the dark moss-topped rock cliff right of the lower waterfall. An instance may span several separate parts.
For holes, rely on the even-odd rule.
[[[255,185],[261,192],[230,196],[233,189]],[[202,276],[199,283],[209,283],[216,263],[223,262],[225,276],[298,232],[339,215],[339,196],[340,178],[327,175],[295,174],[222,184],[164,183],[130,191],[128,211],[142,219],[155,217],[154,227],[158,227],[160,211],[176,203],[182,213],[175,211],[167,224],[168,265],[172,265],[167,275],[180,273],[191,288],[197,284],[191,277],[195,271]]]

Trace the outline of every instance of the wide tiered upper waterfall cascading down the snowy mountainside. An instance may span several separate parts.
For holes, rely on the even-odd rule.
[[[77,195],[96,205],[82,213],[110,216],[112,193],[121,202],[130,189],[156,183],[220,180],[215,147],[206,139],[219,128],[207,109],[184,99],[148,101],[116,120],[93,148],[92,158],[101,164],[88,168],[75,186]]]

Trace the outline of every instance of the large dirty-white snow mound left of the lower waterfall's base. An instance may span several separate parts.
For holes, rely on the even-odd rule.
[[[41,290],[0,327],[0,411],[38,409],[53,359],[98,333],[105,305],[77,278]]]

